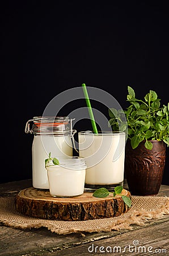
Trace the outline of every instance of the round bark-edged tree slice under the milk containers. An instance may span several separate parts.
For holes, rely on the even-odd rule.
[[[122,190],[122,195],[130,197],[130,192]],[[96,218],[119,216],[128,210],[121,196],[110,194],[105,198],[84,192],[77,197],[52,197],[49,191],[26,188],[15,199],[16,210],[30,217],[48,220],[82,221]]]

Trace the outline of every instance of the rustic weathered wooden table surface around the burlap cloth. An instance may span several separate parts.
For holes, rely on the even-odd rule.
[[[27,187],[32,187],[32,180],[0,184],[0,195],[16,195]],[[169,197],[169,186],[161,185],[157,196]],[[149,221],[145,226],[135,225],[133,230],[87,233],[85,236],[78,233],[62,236],[45,228],[20,230],[0,224],[0,255],[111,255],[110,247],[115,249],[112,254],[119,256],[169,255],[168,224],[169,216],[166,215]],[[142,246],[140,252],[134,251],[133,241]],[[128,246],[126,251],[125,246]]]

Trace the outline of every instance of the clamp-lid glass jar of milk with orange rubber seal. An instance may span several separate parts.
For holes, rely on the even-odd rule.
[[[72,130],[69,117],[33,117],[26,123],[26,133],[32,133],[32,183],[34,188],[49,189],[45,159],[54,156],[72,156]],[[33,122],[32,129],[29,123]]]

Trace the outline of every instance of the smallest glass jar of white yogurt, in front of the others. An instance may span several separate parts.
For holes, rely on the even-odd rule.
[[[83,194],[86,161],[79,156],[57,158],[59,165],[47,164],[50,195],[73,197]]]

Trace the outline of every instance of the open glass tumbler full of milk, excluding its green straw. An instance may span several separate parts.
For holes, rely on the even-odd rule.
[[[109,191],[124,181],[125,133],[81,131],[79,156],[86,159],[84,188],[92,192],[104,187]]]

